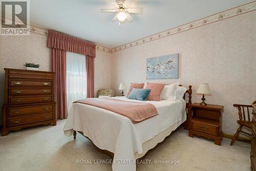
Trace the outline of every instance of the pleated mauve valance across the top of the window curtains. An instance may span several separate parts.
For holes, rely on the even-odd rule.
[[[96,57],[96,45],[53,30],[48,32],[47,47]]]

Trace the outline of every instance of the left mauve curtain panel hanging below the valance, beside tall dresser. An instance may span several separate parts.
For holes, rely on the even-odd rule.
[[[55,72],[55,101],[56,118],[66,119],[67,113],[67,95],[66,95],[66,51],[60,49],[51,49],[52,71]]]

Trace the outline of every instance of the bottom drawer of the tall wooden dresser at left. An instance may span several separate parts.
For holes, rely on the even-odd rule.
[[[16,126],[20,124],[40,122],[40,121],[51,120],[51,119],[53,119],[53,113],[32,115],[32,116],[26,116],[26,117],[15,117],[15,118],[8,119],[8,126]]]

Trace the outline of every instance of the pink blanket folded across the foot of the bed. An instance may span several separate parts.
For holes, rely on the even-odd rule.
[[[87,98],[77,100],[74,103],[94,105],[121,114],[130,118],[133,123],[138,123],[158,115],[156,107],[150,103],[123,101],[111,98]]]

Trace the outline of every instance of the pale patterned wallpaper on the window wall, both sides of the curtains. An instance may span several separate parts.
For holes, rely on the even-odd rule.
[[[50,48],[47,37],[31,33],[29,36],[0,36],[0,106],[4,104],[4,68],[25,69],[25,62],[39,63],[40,71],[51,71]],[[94,89],[95,95],[102,88],[111,88],[111,53],[96,49]],[[0,110],[0,125],[2,110]]]

